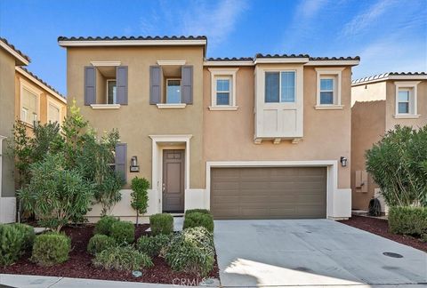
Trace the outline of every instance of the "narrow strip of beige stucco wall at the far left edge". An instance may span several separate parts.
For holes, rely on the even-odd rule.
[[[14,75],[15,75],[15,59],[8,52],[4,52],[0,48],[0,135],[12,137],[12,126],[14,122]],[[4,140],[2,158],[2,195],[14,196],[14,180],[13,180],[13,161],[12,158],[6,156],[7,144]]]

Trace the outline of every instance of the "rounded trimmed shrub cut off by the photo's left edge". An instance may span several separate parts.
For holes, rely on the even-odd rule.
[[[24,232],[15,225],[0,225],[0,266],[11,265],[20,259],[24,239]]]

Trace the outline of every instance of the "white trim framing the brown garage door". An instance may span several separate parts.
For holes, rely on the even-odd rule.
[[[206,207],[211,207],[211,168],[220,167],[326,167],[326,217],[334,217],[334,191],[338,189],[338,161],[207,161]]]

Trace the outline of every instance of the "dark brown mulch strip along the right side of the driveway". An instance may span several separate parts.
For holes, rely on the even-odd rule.
[[[384,238],[399,242],[400,244],[411,246],[423,252],[427,252],[427,243],[421,241],[420,239],[417,239],[413,236],[398,235],[389,232],[389,223],[385,219],[354,215],[351,216],[349,220],[341,220],[340,222],[379,236],[383,236]]]

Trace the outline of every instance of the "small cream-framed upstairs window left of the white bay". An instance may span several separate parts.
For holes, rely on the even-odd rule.
[[[210,110],[237,110],[236,75],[238,68],[209,68],[211,72]]]

